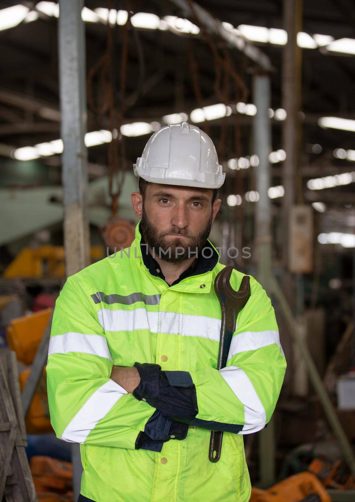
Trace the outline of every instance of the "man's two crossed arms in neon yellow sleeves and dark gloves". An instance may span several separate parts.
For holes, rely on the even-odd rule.
[[[144,362],[113,365],[90,286],[69,278],[56,303],[47,365],[57,436],[160,451],[169,435],[184,439],[187,424],[239,434],[262,429],[276,405],[286,363],[271,303],[256,281],[251,287],[250,308],[240,314],[226,368],[161,371]],[[180,427],[180,436],[173,427]],[[156,444],[147,445],[151,441]]]

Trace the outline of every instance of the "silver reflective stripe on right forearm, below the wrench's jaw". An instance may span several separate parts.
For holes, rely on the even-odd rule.
[[[238,366],[226,366],[219,372],[244,406],[245,424],[238,434],[251,434],[263,429],[266,413],[247,374]]]

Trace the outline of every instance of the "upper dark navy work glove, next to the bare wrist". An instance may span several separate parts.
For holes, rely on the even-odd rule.
[[[133,391],[138,401],[146,401],[169,420],[188,424],[196,417],[196,389],[188,371],[162,371],[159,364],[148,362],[135,362],[133,366],[140,376]]]

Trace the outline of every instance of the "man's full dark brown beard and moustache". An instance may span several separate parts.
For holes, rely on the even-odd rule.
[[[157,256],[161,260],[164,260],[167,263],[181,263],[184,262],[185,260],[189,260],[193,256],[196,256],[196,258],[200,256],[203,246],[211,232],[212,217],[213,217],[213,211],[211,209],[211,216],[209,221],[197,235],[190,235],[186,230],[182,230],[179,228],[177,229],[171,228],[168,231],[159,233],[158,229],[153,225],[153,223],[151,223],[148,220],[143,202],[142,219],[140,222],[141,232],[143,234],[145,242],[153,250],[153,258]],[[184,245],[184,242],[182,242],[181,239],[177,238],[171,240],[170,245],[167,245],[167,243],[164,240],[164,237],[169,233],[185,235],[189,237],[190,243]],[[179,254],[176,256],[176,253]]]

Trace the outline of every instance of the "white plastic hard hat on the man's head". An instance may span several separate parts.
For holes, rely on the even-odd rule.
[[[226,176],[211,138],[185,121],[158,129],[133,169],[151,183],[199,188],[220,188]]]

